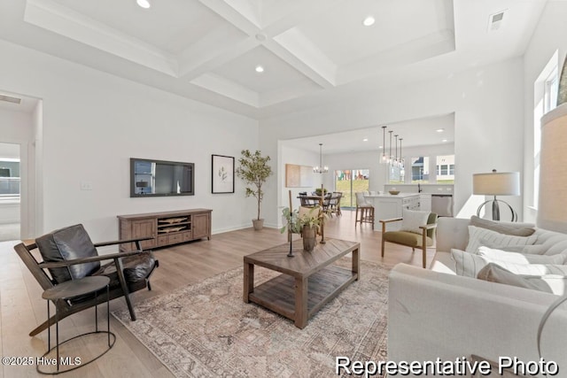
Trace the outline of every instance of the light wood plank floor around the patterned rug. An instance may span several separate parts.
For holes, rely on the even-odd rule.
[[[384,262],[389,266],[403,262],[421,266],[421,251],[412,253],[410,248],[387,244],[386,256],[380,257],[380,232],[372,231],[369,224],[354,228],[354,212],[344,211],[341,217],[329,220],[325,237],[335,237],[361,243],[361,258]],[[253,231],[246,228],[233,232],[213,235],[210,241],[185,243],[173,248],[155,251],[159,268],[151,277],[151,291],[140,290],[133,295],[139,302],[147,297],[169,293],[176,288],[189,285],[206,277],[237,266],[242,266],[243,256],[254,251],[284,243],[286,235],[279,230],[264,228]],[[102,241],[95,241],[102,242]],[[42,356],[47,348],[47,331],[39,336],[27,336],[29,331],[43,322],[47,316],[42,289],[21,263],[13,251],[15,242],[0,243],[0,355],[3,357]],[[428,264],[434,250],[428,251]],[[111,311],[126,307],[123,298],[111,302]],[[100,310],[105,312],[105,306]],[[105,316],[100,316],[99,327],[106,327]],[[102,319],[101,319],[102,318]],[[59,326],[62,340],[92,330],[94,310],[74,314],[62,320]],[[172,374],[156,359],[143,344],[139,343],[118,320],[111,315],[111,330],[116,343],[111,351],[97,361],[66,373],[65,377],[171,377]],[[52,333],[53,336],[53,333]],[[53,342],[52,342],[53,343]],[[74,343],[76,355],[82,356],[84,348],[81,339]],[[2,366],[0,377],[38,376],[35,366]]]

